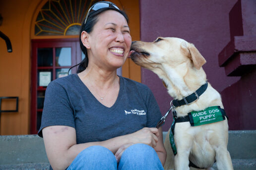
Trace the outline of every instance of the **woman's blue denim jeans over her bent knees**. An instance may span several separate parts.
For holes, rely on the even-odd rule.
[[[117,163],[115,155],[103,146],[80,152],[67,170],[164,170],[155,150],[145,144],[129,146]]]

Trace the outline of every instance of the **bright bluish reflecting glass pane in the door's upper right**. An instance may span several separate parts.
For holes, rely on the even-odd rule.
[[[56,66],[71,66],[71,48],[56,48]]]

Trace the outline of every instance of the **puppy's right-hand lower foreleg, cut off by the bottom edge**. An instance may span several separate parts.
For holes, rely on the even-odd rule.
[[[216,165],[218,170],[233,170],[232,161],[227,148],[216,150]]]

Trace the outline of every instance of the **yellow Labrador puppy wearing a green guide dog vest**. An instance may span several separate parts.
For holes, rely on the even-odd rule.
[[[168,93],[176,99],[174,116],[177,120],[189,117],[190,120],[192,115],[198,114],[198,119],[203,122],[202,120],[207,117],[204,115],[205,109],[212,108],[211,106],[219,106],[217,109],[213,108],[216,112],[223,112],[220,94],[209,83],[207,84],[202,69],[206,61],[192,43],[179,38],[159,37],[154,42],[132,42],[130,54],[136,64],[153,71],[163,80]],[[202,94],[194,93],[202,87]],[[192,94],[199,98],[196,97],[194,101],[189,101],[189,98],[188,101],[186,98],[186,101],[184,100],[185,96]],[[182,100],[183,104],[179,104]],[[213,111],[215,110],[208,110],[209,113]],[[208,117],[211,117],[211,120],[215,119],[214,114],[210,115]],[[170,144],[170,128],[164,143],[167,150],[165,170],[190,170],[191,166],[211,169],[215,161],[218,170],[233,170],[227,150],[226,115],[222,115],[222,118],[219,122],[199,126],[193,125],[191,120],[179,123],[177,121],[173,131],[177,155],[174,156]]]

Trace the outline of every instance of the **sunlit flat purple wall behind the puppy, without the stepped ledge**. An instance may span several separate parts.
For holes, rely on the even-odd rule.
[[[203,66],[210,84],[221,92],[240,77],[227,77],[219,67],[218,54],[230,42],[229,11],[237,0],[140,0],[140,40],[178,37],[192,42],[207,63]],[[142,83],[153,91],[162,114],[170,108],[171,97],[161,80],[142,69]],[[172,116],[163,126],[171,126]]]

